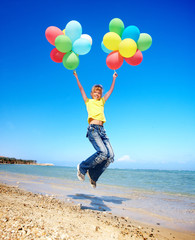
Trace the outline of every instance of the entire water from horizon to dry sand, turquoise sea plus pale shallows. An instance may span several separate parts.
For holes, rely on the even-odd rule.
[[[195,171],[107,169],[92,189],[76,167],[0,164],[0,182],[83,208],[195,232]]]

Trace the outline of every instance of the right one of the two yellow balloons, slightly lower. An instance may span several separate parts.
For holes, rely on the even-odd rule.
[[[137,51],[137,44],[131,38],[125,38],[119,44],[119,53],[125,58],[132,57]]]

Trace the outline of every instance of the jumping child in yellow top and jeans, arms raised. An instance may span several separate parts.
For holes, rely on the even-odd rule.
[[[102,97],[103,87],[101,85],[95,85],[91,90],[92,99],[88,99],[78,79],[76,71],[74,71],[73,74],[77,80],[77,84],[88,111],[89,126],[87,128],[87,137],[97,151],[85,161],[78,164],[77,177],[80,181],[84,181],[85,174],[87,173],[91,186],[96,188],[96,182],[100,175],[111,162],[114,162],[114,153],[103,124],[106,122],[104,116],[104,104],[114,89],[115,79],[118,75],[116,72],[113,74],[112,85],[104,97]]]

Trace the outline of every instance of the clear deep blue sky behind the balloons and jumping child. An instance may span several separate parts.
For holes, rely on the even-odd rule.
[[[50,59],[49,26],[81,23],[93,39],[79,79],[109,90],[101,41],[111,19],[153,38],[136,67],[124,62],[105,105],[113,168],[195,170],[194,5],[191,1],[4,1],[1,3],[0,155],[76,166],[94,150],[72,71]]]

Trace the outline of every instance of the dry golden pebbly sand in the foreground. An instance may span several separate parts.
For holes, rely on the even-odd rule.
[[[64,240],[195,239],[194,233],[146,225],[7,184],[0,184],[0,236]]]

